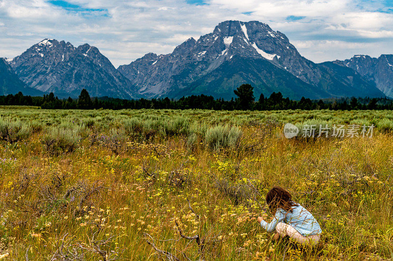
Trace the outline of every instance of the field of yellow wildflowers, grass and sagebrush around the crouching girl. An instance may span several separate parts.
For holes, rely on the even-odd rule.
[[[392,115],[0,108],[0,260],[392,260]],[[309,120],[376,129],[283,136]],[[273,185],[317,246],[257,224]]]

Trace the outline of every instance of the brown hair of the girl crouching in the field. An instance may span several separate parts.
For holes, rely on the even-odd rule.
[[[273,212],[277,209],[284,209],[292,212],[292,208],[299,206],[292,201],[292,196],[288,191],[279,186],[274,186],[266,194],[266,202]]]

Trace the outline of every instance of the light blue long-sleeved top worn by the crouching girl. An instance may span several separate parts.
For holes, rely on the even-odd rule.
[[[322,230],[312,214],[302,206],[292,208],[292,213],[284,209],[277,209],[272,222],[261,221],[261,226],[267,232],[273,232],[279,222],[284,222],[294,227],[303,236],[321,234]]]

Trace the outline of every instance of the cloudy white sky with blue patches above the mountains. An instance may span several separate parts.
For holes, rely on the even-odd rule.
[[[314,62],[393,53],[393,0],[0,0],[0,57],[55,38],[96,46],[117,67],[225,20],[266,23]]]

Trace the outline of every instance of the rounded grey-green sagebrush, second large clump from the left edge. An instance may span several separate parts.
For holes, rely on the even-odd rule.
[[[54,155],[73,152],[80,142],[77,130],[51,127],[43,136],[41,143]]]

